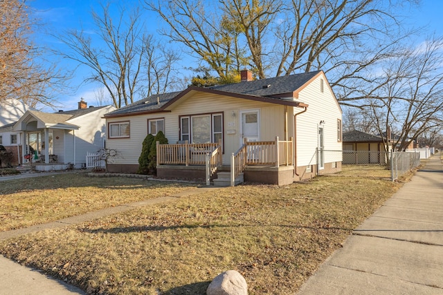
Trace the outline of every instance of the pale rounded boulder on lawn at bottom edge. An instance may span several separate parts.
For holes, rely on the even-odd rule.
[[[214,278],[206,289],[207,295],[248,295],[248,284],[235,270],[222,272]]]

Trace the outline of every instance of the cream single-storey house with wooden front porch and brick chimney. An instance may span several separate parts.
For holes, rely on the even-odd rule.
[[[162,178],[207,178],[206,155],[211,178],[227,170],[231,184],[241,175],[288,184],[341,171],[342,111],[323,71],[241,76],[237,84],[190,86],[106,114],[108,147],[121,154],[108,170],[136,172],[145,136],[163,131],[170,144],[157,146]]]

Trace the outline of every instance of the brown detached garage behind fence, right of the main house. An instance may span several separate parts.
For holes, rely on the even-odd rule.
[[[386,164],[392,140],[361,131],[343,133],[343,164]]]

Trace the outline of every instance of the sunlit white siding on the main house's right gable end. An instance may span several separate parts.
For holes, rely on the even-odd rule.
[[[337,120],[341,120],[341,108],[336,102],[334,94],[325,83],[323,93],[320,92],[320,79],[326,81],[323,75],[319,75],[314,81],[300,91],[298,100],[308,104],[307,111],[296,117],[297,120],[297,166],[317,164],[316,148],[318,146],[318,125],[325,121],[323,132],[325,135],[325,151],[341,151],[342,142],[337,141]],[[299,110],[296,109],[295,113]],[[341,161],[337,153],[325,153],[325,163]]]

